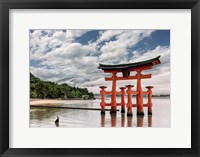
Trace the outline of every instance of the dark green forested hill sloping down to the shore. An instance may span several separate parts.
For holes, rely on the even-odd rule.
[[[87,88],[69,86],[66,83],[57,84],[50,81],[43,81],[30,73],[30,97],[48,99],[66,98],[87,98],[94,99],[94,94]]]

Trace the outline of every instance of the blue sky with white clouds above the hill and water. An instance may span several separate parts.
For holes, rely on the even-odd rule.
[[[157,56],[161,64],[143,74],[142,88],[154,86],[153,94],[170,94],[170,30],[30,30],[30,72],[45,81],[67,83],[99,94],[99,86],[111,90],[111,74],[102,64],[123,64]],[[135,75],[135,72],[131,72]],[[122,74],[118,73],[118,76]],[[136,80],[117,81],[117,87]]]

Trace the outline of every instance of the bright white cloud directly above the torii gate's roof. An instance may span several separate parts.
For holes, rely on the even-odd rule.
[[[105,31],[101,37],[105,41],[115,37],[116,40],[111,40],[106,42],[100,49],[101,62],[121,62],[121,60],[126,61],[126,56],[128,53],[128,48],[135,46],[139,41],[145,37],[149,37],[154,30],[114,30],[114,31]],[[104,35],[105,34],[105,35]],[[102,39],[101,39],[102,40]]]

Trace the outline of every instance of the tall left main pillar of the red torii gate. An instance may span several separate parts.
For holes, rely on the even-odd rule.
[[[117,73],[113,72],[112,73],[112,95],[111,95],[111,110],[110,113],[116,113],[117,110],[117,101],[116,101],[116,78],[117,78]]]

